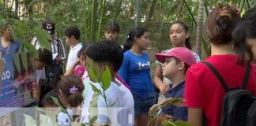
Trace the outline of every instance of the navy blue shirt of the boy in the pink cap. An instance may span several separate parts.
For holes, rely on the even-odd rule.
[[[179,83],[176,87],[170,89],[165,95],[166,98],[183,98],[185,81]],[[165,106],[162,113],[175,117],[175,120],[187,120],[187,107]]]

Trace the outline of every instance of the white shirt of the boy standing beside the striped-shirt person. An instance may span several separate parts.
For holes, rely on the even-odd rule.
[[[66,70],[70,69],[70,66],[77,61],[77,52],[81,50],[82,44],[78,43],[76,46],[70,47],[70,54],[66,63]]]

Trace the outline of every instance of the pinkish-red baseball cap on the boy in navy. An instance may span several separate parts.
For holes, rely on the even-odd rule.
[[[186,47],[175,47],[169,50],[165,54],[156,54],[156,60],[160,61],[161,63],[165,62],[166,57],[176,57],[180,61],[185,62],[186,65],[189,65],[189,66],[197,63],[193,52],[187,49]]]

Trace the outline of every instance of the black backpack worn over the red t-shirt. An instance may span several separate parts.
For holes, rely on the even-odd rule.
[[[247,91],[245,89],[250,76],[250,62],[248,62],[247,64],[247,70],[243,79],[242,88],[229,88],[227,83],[225,83],[224,79],[222,78],[222,76],[220,76],[220,73],[214,68],[213,65],[211,65],[207,61],[202,61],[202,63],[205,64],[213,72],[216,78],[220,81],[221,86],[226,91],[226,95],[224,96],[220,125],[247,126],[247,123],[248,125],[256,125],[254,123],[256,122],[256,118],[254,117],[254,113],[256,113],[256,98],[252,93],[250,93],[250,91]],[[251,116],[252,114],[253,116]],[[251,117],[254,117],[254,119]]]

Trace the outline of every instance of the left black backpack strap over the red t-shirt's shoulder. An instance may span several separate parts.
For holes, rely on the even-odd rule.
[[[224,79],[222,78],[222,76],[220,76],[220,72],[218,72],[215,67],[213,65],[211,65],[209,62],[207,61],[201,61],[201,63],[205,64],[212,72],[213,74],[216,76],[216,78],[220,81],[221,86],[224,88],[224,90],[226,92],[228,92],[229,88],[227,83],[224,81]]]

